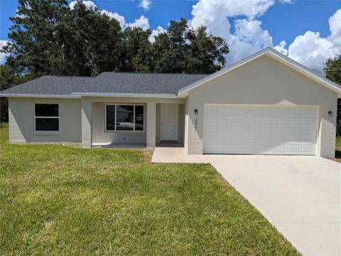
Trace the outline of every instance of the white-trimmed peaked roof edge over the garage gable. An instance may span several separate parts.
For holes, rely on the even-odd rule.
[[[259,52],[256,52],[254,55],[251,55],[243,60],[240,60],[237,63],[234,63],[228,67],[224,67],[223,69],[220,69],[219,71],[208,75],[207,77],[194,82],[193,84],[188,85],[187,87],[183,87],[179,90],[178,96],[185,95],[188,93],[188,91],[199,87],[202,84],[205,84],[206,82],[210,81],[211,79],[215,79],[215,77],[219,77],[222,74],[225,74],[227,72],[232,71],[233,69],[236,69],[237,67],[240,67],[242,65],[247,64],[251,60],[255,60],[263,55],[268,55],[270,57],[273,57],[274,59],[278,60],[279,62],[282,62],[284,65],[287,65],[288,67],[291,67],[295,69],[296,71],[300,72],[301,74],[304,74],[307,77],[310,77],[310,79],[315,80],[316,82],[323,84],[325,87],[328,87],[332,91],[336,91],[339,97],[341,97],[341,87],[340,85],[336,84],[335,82],[330,81],[330,79],[327,79],[326,77],[321,76],[320,74],[313,72],[313,70],[308,69],[308,67],[305,67],[301,65],[300,63],[292,60],[289,57],[286,57],[286,55],[281,54],[277,50],[274,50],[273,48],[265,48],[264,50],[261,50]]]

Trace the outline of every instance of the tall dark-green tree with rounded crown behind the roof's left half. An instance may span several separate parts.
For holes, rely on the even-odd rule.
[[[78,1],[56,29],[63,56],[60,74],[96,76],[117,70],[121,33],[116,19]]]

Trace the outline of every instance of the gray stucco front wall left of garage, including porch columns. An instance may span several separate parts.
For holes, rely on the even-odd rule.
[[[11,143],[79,143],[90,148],[92,143],[146,143],[155,146],[156,103],[179,104],[183,116],[185,99],[148,99],[119,97],[86,97],[85,99],[9,99],[9,140]],[[58,103],[60,131],[34,132],[34,103]],[[104,106],[106,103],[144,104],[144,132],[105,132]],[[152,113],[152,115],[148,115]],[[149,118],[148,118],[149,117]],[[179,140],[183,140],[183,121],[179,121]],[[149,127],[149,128],[148,128]],[[149,138],[149,140],[148,140]]]

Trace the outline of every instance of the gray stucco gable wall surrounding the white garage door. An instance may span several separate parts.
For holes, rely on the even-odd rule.
[[[259,57],[189,92],[189,154],[202,154],[205,104],[319,106],[317,155],[335,155],[337,93],[269,56]],[[335,114],[330,117],[328,111]]]

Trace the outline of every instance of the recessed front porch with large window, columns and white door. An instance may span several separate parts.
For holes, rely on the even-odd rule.
[[[82,148],[183,148],[185,99],[82,100]]]

